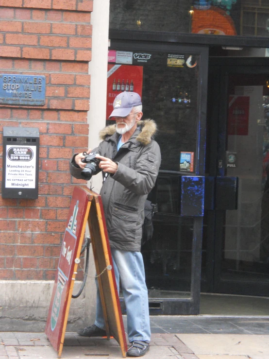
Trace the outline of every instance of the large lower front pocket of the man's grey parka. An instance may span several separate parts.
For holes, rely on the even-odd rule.
[[[138,212],[129,208],[125,205],[114,205],[111,218],[111,240],[122,243],[134,241]]]

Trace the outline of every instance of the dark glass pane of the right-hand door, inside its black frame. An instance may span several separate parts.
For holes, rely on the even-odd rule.
[[[221,273],[224,280],[269,283],[269,89],[266,80],[265,75],[230,77],[233,85],[230,85],[227,150],[237,154],[237,164],[235,168],[227,168],[226,175],[238,176],[239,191],[238,209],[226,212]],[[233,105],[236,111],[232,113]]]

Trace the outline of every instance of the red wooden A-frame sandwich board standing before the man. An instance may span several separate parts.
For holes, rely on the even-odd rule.
[[[126,358],[127,343],[101,196],[85,186],[75,187],[73,191],[45,333],[58,353],[58,358],[61,358],[87,222],[98,275],[107,339],[113,336],[120,345],[122,357]]]

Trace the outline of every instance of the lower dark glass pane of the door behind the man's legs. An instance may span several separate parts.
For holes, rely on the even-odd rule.
[[[142,247],[150,297],[190,296],[193,218],[180,217],[180,176],[160,172],[153,237]]]

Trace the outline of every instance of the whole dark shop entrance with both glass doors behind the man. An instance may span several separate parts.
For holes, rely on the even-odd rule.
[[[266,58],[134,37],[112,31],[109,49],[127,59],[122,73],[141,87],[143,118],[158,126],[162,164],[149,196],[158,212],[141,249],[151,314],[199,314],[201,293],[267,296]],[[111,87],[126,83],[117,60],[108,66]]]

